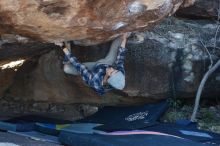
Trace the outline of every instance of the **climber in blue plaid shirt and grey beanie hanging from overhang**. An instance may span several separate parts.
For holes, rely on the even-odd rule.
[[[83,81],[98,94],[103,95],[114,89],[122,90],[125,87],[125,45],[129,33],[115,39],[107,56],[96,62],[80,63],[71,53],[70,43],[62,46],[68,61],[64,62],[64,72],[82,76]]]

